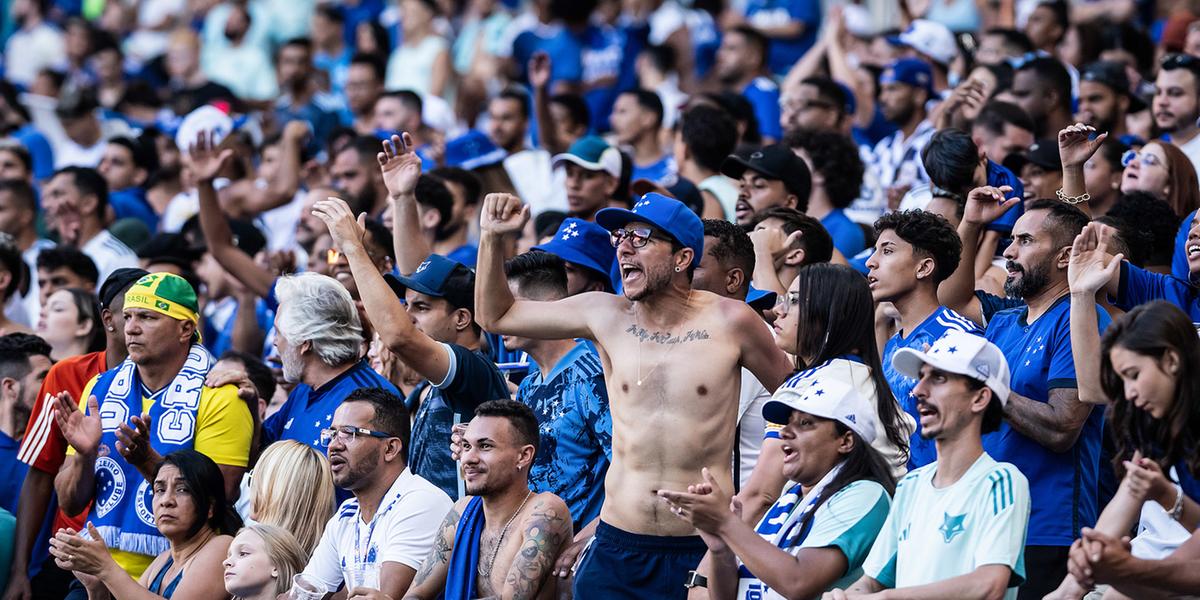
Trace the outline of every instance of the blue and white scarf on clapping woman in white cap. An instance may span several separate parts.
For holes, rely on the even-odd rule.
[[[762,535],[763,539],[774,544],[776,547],[784,550],[788,553],[794,553],[804,539],[809,536],[809,532],[812,530],[812,522],[816,520],[808,517],[814,510],[817,509],[817,504],[824,493],[826,487],[829,482],[841,473],[841,467],[846,464],[845,462],[838,463],[836,467],[829,469],[817,485],[809,490],[809,493],[804,493],[800,484],[788,484],[787,488],[784,490],[782,496],[779,500],[767,511],[767,515],[758,521],[758,527],[755,528],[755,533]],[[804,526],[800,527],[800,522],[805,521]],[[767,586],[755,577],[745,565],[738,560],[738,600],[750,600],[750,599],[778,599],[781,598],[773,590],[767,588]]]

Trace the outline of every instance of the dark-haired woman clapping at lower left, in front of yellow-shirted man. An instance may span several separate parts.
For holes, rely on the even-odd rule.
[[[150,563],[139,581],[113,560],[90,522],[86,538],[60,529],[50,539],[50,553],[60,569],[74,571],[89,600],[224,600],[229,594],[222,563],[241,520],[226,500],[223,481],[220,467],[194,450],[163,458],[151,486],[152,510],[170,548]]]

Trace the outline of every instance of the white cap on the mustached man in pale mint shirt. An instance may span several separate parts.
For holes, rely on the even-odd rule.
[[[1001,406],[1008,403],[1008,360],[980,336],[950,329],[925,352],[901,348],[892,358],[892,366],[913,379],[920,378],[922,365],[983,382]]]

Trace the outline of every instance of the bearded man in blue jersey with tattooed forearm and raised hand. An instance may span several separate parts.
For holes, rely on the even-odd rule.
[[[1067,576],[1067,557],[1081,527],[1096,523],[1097,475],[1104,412],[1079,400],[1070,348],[1067,264],[1075,236],[1087,226],[1079,209],[1056,200],[1026,206],[1004,250],[1008,277],[1001,299],[974,292],[980,230],[1020,198],[1008,187],[978,187],[967,196],[959,238],[962,258],[938,298],[984,325],[1012,367],[1013,392],[1004,422],[984,437],[984,450],[1015,464],[1030,480],[1033,506],[1025,546],[1027,583],[1019,598],[1040,599]],[[1100,329],[1109,316],[1096,307]]]

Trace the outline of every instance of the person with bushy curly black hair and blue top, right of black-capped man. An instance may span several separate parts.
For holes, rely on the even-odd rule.
[[[845,257],[866,247],[863,226],[846,216],[846,206],[858,198],[863,187],[863,160],[848,137],[829,131],[793,131],[787,136],[792,148],[809,166],[812,188],[805,212],[820,220]]]

